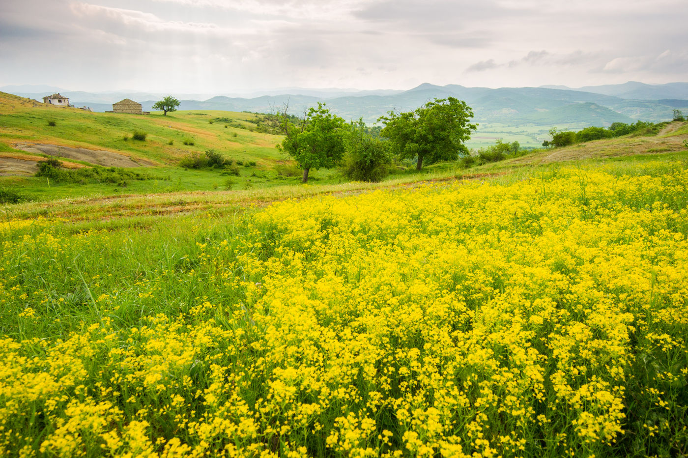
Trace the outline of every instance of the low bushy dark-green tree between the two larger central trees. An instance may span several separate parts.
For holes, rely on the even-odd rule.
[[[371,135],[363,118],[350,124],[345,145],[341,171],[348,179],[379,182],[389,173],[389,142]]]

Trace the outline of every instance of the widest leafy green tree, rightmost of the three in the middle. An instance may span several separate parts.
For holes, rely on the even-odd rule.
[[[420,170],[423,162],[456,160],[468,153],[463,142],[477,129],[477,124],[469,124],[471,118],[473,110],[466,102],[448,97],[436,98],[415,111],[389,111],[378,121],[385,123],[380,135],[389,138],[394,153],[400,159],[417,158],[416,170]]]

